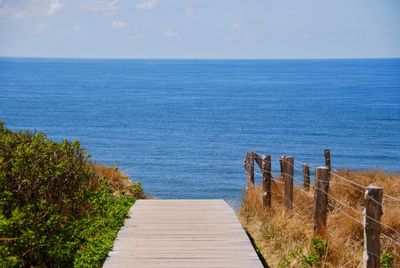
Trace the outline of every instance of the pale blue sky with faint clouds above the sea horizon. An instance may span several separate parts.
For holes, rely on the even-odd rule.
[[[400,57],[399,0],[0,0],[0,56]]]

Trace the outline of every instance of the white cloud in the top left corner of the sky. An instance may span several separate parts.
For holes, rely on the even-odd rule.
[[[0,0],[0,17],[23,19],[28,17],[54,16],[65,4],[60,0]]]

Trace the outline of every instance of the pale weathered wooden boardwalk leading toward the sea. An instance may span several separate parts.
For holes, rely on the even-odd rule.
[[[223,200],[138,200],[104,267],[263,267]]]

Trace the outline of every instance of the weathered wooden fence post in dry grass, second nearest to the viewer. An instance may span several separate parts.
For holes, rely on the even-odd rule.
[[[324,238],[328,206],[329,168],[317,167],[314,182],[314,236]]]

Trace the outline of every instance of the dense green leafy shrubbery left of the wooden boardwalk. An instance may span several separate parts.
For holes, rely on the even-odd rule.
[[[96,267],[140,184],[96,166],[79,142],[0,122],[0,267]]]

